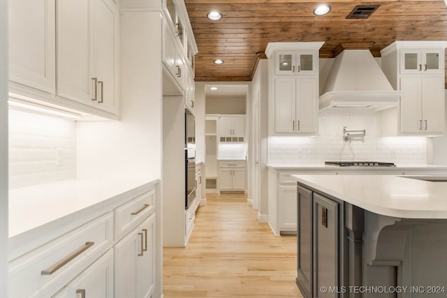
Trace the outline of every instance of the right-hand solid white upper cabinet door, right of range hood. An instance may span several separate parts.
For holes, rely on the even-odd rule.
[[[424,133],[444,133],[444,76],[423,76],[422,119]]]

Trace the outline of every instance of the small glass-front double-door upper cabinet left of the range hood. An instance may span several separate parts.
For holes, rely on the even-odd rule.
[[[274,73],[275,75],[318,74],[318,51],[277,51]]]

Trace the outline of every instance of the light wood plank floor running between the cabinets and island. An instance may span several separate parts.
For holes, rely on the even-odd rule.
[[[186,248],[163,248],[165,298],[302,297],[296,236],[274,237],[246,195],[207,194]]]

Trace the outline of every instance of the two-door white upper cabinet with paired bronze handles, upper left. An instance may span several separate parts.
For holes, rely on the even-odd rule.
[[[117,114],[117,6],[57,1],[57,94]]]

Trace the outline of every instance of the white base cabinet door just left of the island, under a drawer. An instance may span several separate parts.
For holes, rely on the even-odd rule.
[[[278,186],[279,231],[296,231],[297,191],[295,184]]]

